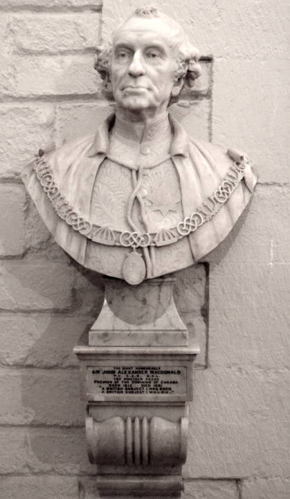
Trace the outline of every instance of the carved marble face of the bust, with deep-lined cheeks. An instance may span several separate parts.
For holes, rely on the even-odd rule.
[[[111,82],[118,107],[164,112],[174,86],[176,60],[163,19],[132,17],[115,33]]]

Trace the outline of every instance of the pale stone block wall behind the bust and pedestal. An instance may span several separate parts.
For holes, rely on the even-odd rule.
[[[202,54],[203,76],[172,112],[195,137],[245,150],[260,170],[232,234],[176,283],[201,344],[183,496],[288,499],[290,8],[154,3]],[[102,306],[102,282],[55,245],[19,174],[40,147],[91,132],[111,110],[94,46],[141,4],[1,1],[1,499],[98,497],[71,352]]]

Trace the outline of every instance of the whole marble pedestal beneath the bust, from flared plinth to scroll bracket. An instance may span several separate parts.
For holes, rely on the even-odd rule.
[[[174,277],[129,286],[105,279],[105,302],[74,352],[87,401],[89,460],[100,495],[180,497],[193,362]]]

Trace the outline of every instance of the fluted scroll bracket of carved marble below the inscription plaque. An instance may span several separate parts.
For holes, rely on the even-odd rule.
[[[100,422],[87,416],[86,432],[91,464],[145,469],[145,466],[178,466],[186,460],[187,417],[174,423],[156,416],[126,419],[116,416]]]

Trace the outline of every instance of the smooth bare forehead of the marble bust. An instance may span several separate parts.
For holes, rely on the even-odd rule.
[[[128,21],[120,26],[113,33],[113,44],[116,44],[121,39],[135,37],[140,35],[144,40],[163,40],[166,41],[172,36],[172,26],[169,26],[162,17],[144,18],[131,17]]]

